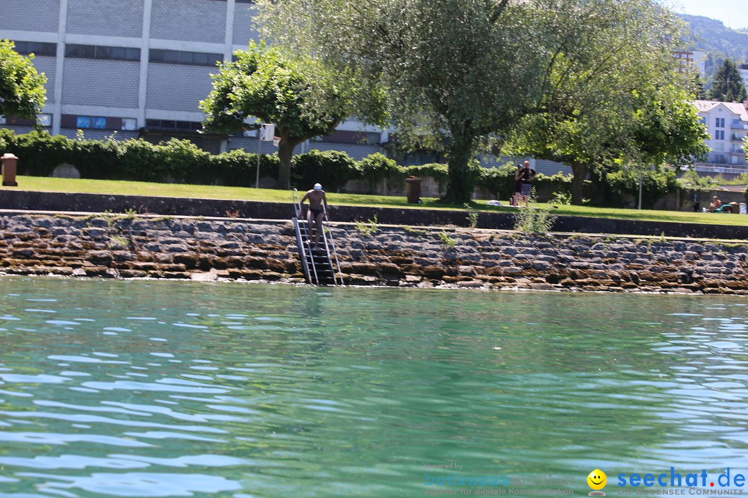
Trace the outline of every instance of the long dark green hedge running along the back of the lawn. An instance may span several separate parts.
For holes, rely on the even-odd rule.
[[[73,164],[82,178],[178,181],[189,184],[221,184],[248,187],[257,176],[257,154],[233,150],[209,154],[189,140],[172,139],[153,144],[145,140],[71,140],[46,131],[16,135],[0,128],[0,153],[12,152],[19,157],[19,174],[50,176],[58,164]],[[475,165],[476,185],[500,199],[514,190],[513,164],[498,168]],[[325,190],[335,192],[352,179],[363,179],[373,192],[385,178],[393,183],[409,175],[431,177],[444,192],[450,175],[446,164],[422,164],[402,167],[379,153],[355,161],[345,152],[311,150],[292,158],[291,182],[299,190],[307,190],[316,182]],[[278,178],[278,156],[260,155],[260,176]],[[567,191],[571,176],[538,175],[534,182],[541,190],[552,185]]]

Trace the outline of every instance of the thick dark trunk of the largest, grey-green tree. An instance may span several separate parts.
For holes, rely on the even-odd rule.
[[[465,204],[473,198],[474,178],[470,172],[470,159],[473,158],[473,131],[469,125],[459,123],[450,127],[451,137],[447,161],[450,181],[444,200],[454,204]]]

